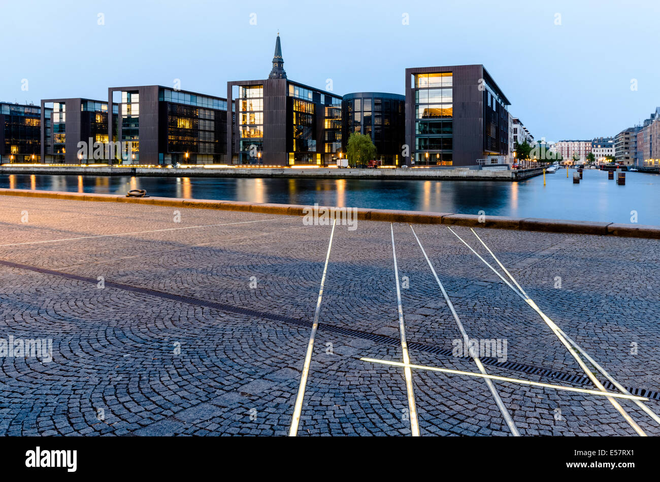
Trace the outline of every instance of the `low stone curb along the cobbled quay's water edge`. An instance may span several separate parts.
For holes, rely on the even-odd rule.
[[[310,212],[310,206],[275,203],[249,203],[246,201],[194,200],[181,198],[127,198],[119,194],[87,194],[79,192],[37,191],[26,189],[3,189],[0,195],[30,198],[51,198],[74,201],[100,201],[120,203],[141,203],[159,206],[191,207],[197,209],[222,209],[227,211],[248,211],[251,213],[303,216]],[[327,209],[327,206],[319,206]],[[364,221],[388,221],[390,223],[443,224],[479,228],[513,229],[524,231],[563,232],[567,234],[597,234],[601,236],[624,236],[630,238],[660,239],[660,226],[627,225],[618,223],[598,223],[595,221],[570,221],[564,219],[512,218],[455,213],[430,213],[424,211],[399,211],[397,209],[354,208],[357,219]],[[321,211],[322,212],[322,211]]]

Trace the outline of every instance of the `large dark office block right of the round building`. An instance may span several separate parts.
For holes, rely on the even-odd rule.
[[[504,164],[510,102],[483,65],[407,68],[409,165]]]

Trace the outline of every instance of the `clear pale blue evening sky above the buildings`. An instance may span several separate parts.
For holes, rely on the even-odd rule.
[[[174,79],[224,97],[228,80],[267,76],[279,30],[288,78],[331,78],[337,94],[403,94],[406,67],[482,63],[537,139],[612,136],[660,105],[656,0],[0,5],[3,101],[104,99],[109,86]]]

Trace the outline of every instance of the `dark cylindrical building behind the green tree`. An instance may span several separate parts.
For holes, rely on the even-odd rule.
[[[406,97],[384,92],[355,92],[341,101],[342,150],[350,134],[369,136],[376,146],[376,159],[383,165],[400,165],[405,144]]]

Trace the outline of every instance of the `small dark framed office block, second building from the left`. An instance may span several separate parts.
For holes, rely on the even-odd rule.
[[[105,162],[104,144],[108,143],[108,103],[106,101],[70,98],[41,101],[42,163],[92,163],[94,144],[96,162]],[[88,144],[79,153],[79,142]]]

